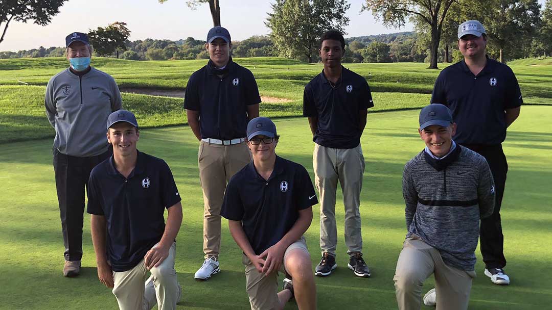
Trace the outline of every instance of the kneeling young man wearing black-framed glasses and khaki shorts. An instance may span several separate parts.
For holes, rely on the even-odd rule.
[[[226,187],[221,215],[243,251],[251,309],[283,309],[295,297],[299,309],[316,309],[316,287],[303,233],[318,203],[305,167],[276,155],[279,135],[266,117],[247,125],[253,162]],[[278,271],[286,274],[277,293]]]

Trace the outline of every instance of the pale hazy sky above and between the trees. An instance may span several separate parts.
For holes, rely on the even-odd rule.
[[[539,0],[544,5],[545,0]],[[268,0],[220,0],[221,23],[229,29],[232,40],[240,41],[252,35],[264,35],[269,29],[264,26],[267,12],[272,12]],[[93,3],[93,4],[92,4]],[[351,22],[346,28],[346,37],[376,35],[399,31],[405,28],[385,28],[375,20],[371,12],[359,14],[363,0],[349,0],[351,8],[347,16]],[[12,21],[0,51],[17,51],[39,46],[63,46],[65,36],[73,31],[88,32],[98,26],[107,26],[114,21],[124,21],[131,31],[130,40],[185,39],[189,36],[205,40],[213,21],[208,4],[190,10],[185,0],[168,0],[160,4],[157,0],[69,0],[60,13],[47,26]],[[3,27],[2,27],[3,29]]]

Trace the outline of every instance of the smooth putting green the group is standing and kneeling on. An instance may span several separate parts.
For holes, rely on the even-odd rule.
[[[477,278],[470,309],[549,309],[552,279],[547,267],[552,257],[552,107],[524,106],[509,128],[504,143],[509,162],[502,225],[512,284],[493,285],[483,275],[477,252]],[[418,111],[374,113],[362,137],[366,160],[361,214],[364,258],[370,279],[347,269],[343,241],[343,205],[338,191],[338,268],[328,278],[317,278],[319,309],[396,309],[393,275],[406,233],[401,194],[402,168],[423,148],[417,134]],[[276,120],[282,135],[280,156],[300,162],[311,177],[312,149],[305,118]],[[206,282],[193,280],[203,261],[203,199],[199,186],[198,142],[188,127],[145,129],[139,148],[162,157],[171,166],[182,194],[184,221],[178,235],[176,269],[183,286],[179,309],[248,309],[241,251],[223,221],[222,272]],[[51,139],[3,144],[0,150],[0,309],[115,309],[109,289],[97,279],[89,216],[84,225],[82,274],[61,275],[63,244]],[[306,232],[313,267],[319,262],[319,205]],[[424,286],[432,287],[433,279]],[[292,302],[286,309],[295,309]],[[422,307],[422,309],[431,309]]]

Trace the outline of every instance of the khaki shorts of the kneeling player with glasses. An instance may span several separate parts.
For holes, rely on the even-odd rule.
[[[303,249],[306,253],[309,253],[305,237],[301,236],[298,241],[290,244],[285,250],[284,261],[280,270],[276,270],[268,276],[259,273],[251,260],[243,254],[242,263],[246,266],[246,291],[249,295],[252,310],[269,310],[278,306],[278,271],[288,274],[285,270],[285,261],[289,252],[294,249]]]

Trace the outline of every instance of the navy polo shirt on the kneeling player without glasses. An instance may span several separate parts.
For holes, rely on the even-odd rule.
[[[87,192],[87,212],[107,221],[107,258],[117,272],[134,268],[161,241],[164,209],[181,200],[167,163],[140,151],[128,178],[113,156],[95,166]]]

